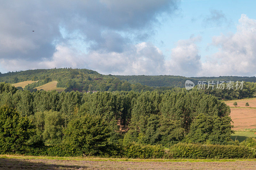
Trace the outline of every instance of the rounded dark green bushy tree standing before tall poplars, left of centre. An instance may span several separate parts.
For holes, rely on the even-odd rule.
[[[74,118],[64,130],[64,144],[76,146],[85,155],[101,155],[108,146],[110,128],[100,116]]]

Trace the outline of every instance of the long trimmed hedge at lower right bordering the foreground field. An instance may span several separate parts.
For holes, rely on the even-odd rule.
[[[171,146],[165,158],[189,159],[232,159],[255,158],[255,150],[236,145],[187,144],[178,143]]]

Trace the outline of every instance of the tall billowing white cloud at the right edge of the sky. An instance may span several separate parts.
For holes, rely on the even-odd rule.
[[[219,51],[203,63],[200,75],[255,76],[256,75],[256,20],[241,15],[237,31],[231,35],[212,38],[212,45]]]

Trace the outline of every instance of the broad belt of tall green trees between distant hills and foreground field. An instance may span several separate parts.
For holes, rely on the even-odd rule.
[[[203,158],[203,146],[195,146],[191,154],[196,156],[184,156],[173,147],[184,148],[173,144],[237,144],[230,139],[229,107],[196,89],[58,93],[17,90],[10,84],[1,89],[1,153],[128,158],[163,158],[172,153],[177,158]],[[221,146],[228,148],[221,153],[219,145],[209,146],[212,158],[254,154],[247,147],[231,149],[228,155],[229,145]]]

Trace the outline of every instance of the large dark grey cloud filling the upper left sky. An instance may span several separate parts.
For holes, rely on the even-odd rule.
[[[88,50],[123,52],[145,41],[152,23],[172,13],[176,0],[1,1],[0,59],[51,59],[58,44],[79,39]],[[63,36],[60,28],[66,30]],[[32,32],[35,31],[35,32]]]

